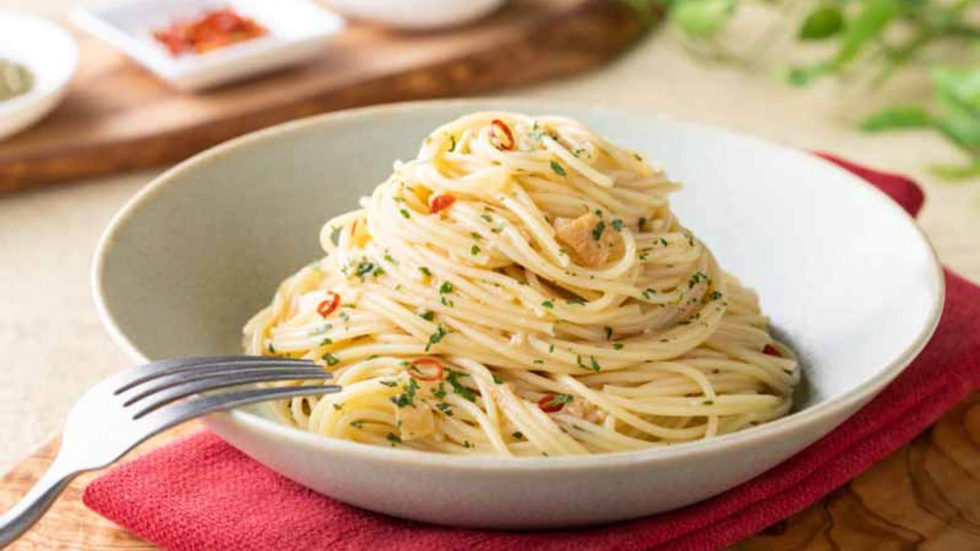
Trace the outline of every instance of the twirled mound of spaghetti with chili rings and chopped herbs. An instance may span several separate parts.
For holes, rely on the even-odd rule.
[[[785,415],[795,357],[642,155],[557,117],[477,113],[323,226],[326,255],[245,326],[343,391],[274,404],[318,434],[553,456]]]

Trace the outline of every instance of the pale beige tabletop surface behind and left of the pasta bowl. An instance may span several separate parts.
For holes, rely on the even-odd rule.
[[[0,0],[0,7],[53,17],[71,4]],[[909,86],[919,90],[915,80]],[[940,257],[980,280],[980,181],[949,185],[928,174],[928,163],[959,159],[936,135],[855,131],[842,114],[868,109],[858,86],[791,89],[694,61],[669,33],[659,32],[601,71],[512,93],[723,125],[912,175],[926,188],[920,220]],[[57,432],[88,385],[127,366],[96,317],[91,254],[116,210],[158,172],[0,196],[0,469]],[[828,224],[833,217],[827,213]]]

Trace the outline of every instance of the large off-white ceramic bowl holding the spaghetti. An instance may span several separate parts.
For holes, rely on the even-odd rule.
[[[687,505],[759,475],[839,425],[932,334],[942,271],[887,196],[803,151],[703,125],[525,101],[413,103],[326,115],[202,153],[141,191],[109,227],[94,289],[139,362],[239,350],[277,283],[319,258],[319,226],[473,111],[561,114],[662,163],[674,207],[721,265],[759,290],[799,352],[808,388],[790,416],[710,440],[589,457],[456,457],[324,438],[238,410],[208,426],[319,492],[458,526],[619,521]]]

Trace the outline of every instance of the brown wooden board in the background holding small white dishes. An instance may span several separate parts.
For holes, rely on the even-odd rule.
[[[658,13],[651,8],[654,19]],[[81,63],[65,102],[0,141],[0,191],[172,163],[317,113],[581,72],[624,50],[649,23],[622,0],[511,0],[490,18],[437,33],[355,24],[308,65],[201,94],[172,90],[80,36]]]

